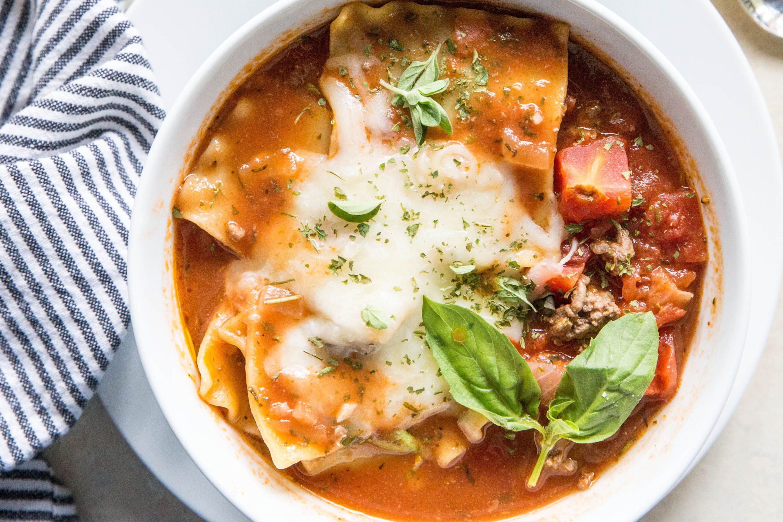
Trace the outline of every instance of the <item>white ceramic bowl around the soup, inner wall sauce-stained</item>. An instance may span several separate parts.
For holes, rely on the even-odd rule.
[[[205,122],[251,70],[299,34],[332,20],[345,0],[283,0],[236,31],[179,96],[153,143],[135,200],[129,286],[136,343],[150,386],[182,446],[252,520],[375,520],[312,495],[256,455],[197,394],[172,274],[171,203]],[[742,355],[749,311],[745,214],[713,123],[677,70],[646,38],[592,0],[500,0],[568,22],[655,107],[694,177],[709,236],[695,339],[677,396],[658,423],[589,491],[513,520],[637,520],[683,477],[715,426]],[[259,53],[263,54],[259,56]],[[679,139],[677,139],[677,137]],[[714,298],[714,301],[713,301]],[[128,398],[132,400],[132,398]]]

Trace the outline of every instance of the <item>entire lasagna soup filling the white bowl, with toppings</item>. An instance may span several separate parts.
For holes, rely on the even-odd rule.
[[[175,196],[200,397],[377,517],[590,488],[676,393],[707,260],[651,114],[565,23],[346,5],[226,99]]]

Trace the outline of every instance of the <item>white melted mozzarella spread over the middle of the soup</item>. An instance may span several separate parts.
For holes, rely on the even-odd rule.
[[[405,429],[453,407],[435,358],[417,333],[421,297],[444,301],[449,296],[455,277],[449,265],[459,261],[475,265],[478,272],[501,267],[510,273],[556,261],[562,225],[554,212],[548,229],[533,221],[518,203],[513,167],[479,159],[459,142],[435,142],[406,154],[373,146],[366,136],[352,132],[363,128],[364,118],[352,96],[338,88],[324,92],[334,108],[338,139],[350,146],[303,168],[308,174],[290,208],[296,218],[280,227],[312,229],[319,223],[327,235],[310,243],[300,233],[293,247],[287,239],[276,243],[276,255],[236,261],[228,287],[236,296],[263,282],[294,279],[285,286],[302,296],[311,315],[269,347],[262,369],[266,376],[284,380],[294,402],[307,405],[313,423],[331,418],[335,425],[369,437],[379,430]],[[337,200],[335,187],[348,200],[382,202],[366,236],[355,223],[328,210],[327,203]],[[269,254],[268,242],[263,248]],[[341,258],[341,268],[330,270],[330,263]],[[260,266],[256,260],[262,260]],[[509,268],[515,266],[512,261],[519,268]],[[475,296],[458,301],[483,304]],[[362,311],[368,306],[388,315],[388,328],[366,325]],[[498,319],[483,313],[489,322]],[[518,337],[520,329],[514,323],[508,333]],[[314,347],[308,339],[315,337],[325,345]],[[374,371],[378,378],[368,383],[363,400],[342,401],[342,392],[319,376],[330,357],[337,362],[352,358]],[[290,403],[272,415],[295,408]],[[341,435],[334,432],[330,449],[339,448]]]

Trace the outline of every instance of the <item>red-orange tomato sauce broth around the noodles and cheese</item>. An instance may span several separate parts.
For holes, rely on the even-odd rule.
[[[259,178],[253,176],[254,169],[280,161],[274,155],[281,148],[300,147],[322,153],[328,150],[330,110],[319,105],[319,93],[306,88],[308,84],[318,85],[327,59],[328,37],[326,28],[315,31],[274,56],[237,88],[207,129],[201,149],[216,131],[240,145],[234,148],[238,152],[232,161],[248,195],[244,203],[247,209],[241,209],[247,216],[244,219],[249,220],[243,223],[245,228],[261,229],[272,214],[279,214],[288,192],[276,190],[287,183],[285,175]],[[240,106],[240,110],[254,111],[256,117],[251,121],[263,124],[232,120],[230,114],[246,99],[255,103],[247,108]],[[569,265],[583,264],[583,273],[590,275],[595,285],[612,292],[622,310],[655,313],[662,337],[673,350],[673,364],[669,362],[673,374],[662,378],[657,385],[661,389],[656,388],[641,401],[618,434],[597,444],[570,448],[568,457],[576,461],[576,473],[547,477],[537,491],[525,486],[537,455],[532,430],[511,437],[494,425],[486,429],[482,442],[471,445],[459,463],[447,469],[431,460],[419,462],[416,455],[378,455],[315,476],[306,475],[297,466],[283,473],[316,495],[377,517],[496,520],[589,487],[604,468],[615,463],[649,425],[657,422],[656,412],[676,387],[698,313],[695,304],[707,258],[700,210],[703,203],[687,185],[666,137],[649,120],[630,87],[575,44],[569,45],[566,104],[558,149],[609,136],[626,144],[633,207],[625,225],[636,250],[630,273],[622,276],[606,274],[601,260],[586,247],[579,248]],[[305,106],[309,109],[302,111]],[[290,121],[300,111],[307,125],[276,123]],[[455,135],[459,125],[455,122]],[[576,238],[611,232],[608,221],[588,222]],[[566,242],[564,253],[569,248]],[[177,219],[174,257],[182,315],[198,346],[223,297],[223,273],[236,254],[197,225]],[[665,275],[661,275],[662,269]],[[670,306],[676,292],[685,288],[695,297],[681,308]],[[555,301],[563,304],[568,298],[560,292]],[[543,323],[533,322],[531,326],[520,348],[526,358],[567,362],[579,353],[576,343],[555,344],[550,340]],[[424,441],[426,451],[428,445],[437,445],[444,433],[456,429],[452,417],[435,416],[410,431]],[[265,454],[262,443],[253,440],[252,444]]]

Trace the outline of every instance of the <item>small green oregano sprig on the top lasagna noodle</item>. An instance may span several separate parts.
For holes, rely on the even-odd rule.
[[[426,62],[413,62],[403,71],[397,86],[389,85],[381,80],[381,85],[388,88],[395,95],[391,99],[391,105],[402,106],[410,110],[410,121],[413,125],[413,135],[419,146],[424,145],[427,138],[427,128],[440,127],[446,134],[451,135],[452,127],[446,110],[431,96],[446,91],[449,87],[449,79],[438,80],[440,69],[438,68],[438,45]]]

